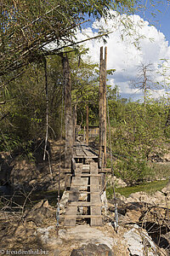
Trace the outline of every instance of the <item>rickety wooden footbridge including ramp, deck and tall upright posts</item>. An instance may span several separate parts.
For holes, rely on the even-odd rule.
[[[76,141],[76,108],[71,111],[71,79],[65,69],[65,168],[69,183],[68,207],[65,212],[65,226],[74,226],[78,218],[88,219],[91,225],[101,225],[102,215],[100,192],[104,185],[99,167],[106,166],[106,59],[103,47],[100,48],[99,62],[99,155],[88,147],[88,105],[86,116],[86,144]],[[66,63],[65,63],[66,65]],[[66,66],[65,66],[66,67]],[[73,145],[74,144],[74,145]],[[72,150],[73,149],[73,150]]]

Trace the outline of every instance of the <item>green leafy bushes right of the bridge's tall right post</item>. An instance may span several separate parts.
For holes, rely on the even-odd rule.
[[[128,184],[141,183],[154,175],[150,155],[164,152],[169,133],[164,99],[144,103],[122,101],[116,88],[109,95],[111,144],[114,172]],[[109,142],[108,142],[109,146]]]

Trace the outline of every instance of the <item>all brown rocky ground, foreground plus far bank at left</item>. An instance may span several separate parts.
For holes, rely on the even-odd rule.
[[[42,161],[43,145],[35,160],[30,163],[0,156],[0,179],[12,184],[15,191],[49,191],[58,189],[59,151],[61,159],[64,142],[50,143],[50,161]],[[169,154],[162,162],[170,161]],[[126,186],[115,178],[118,186]],[[64,175],[60,185],[64,188]],[[42,193],[42,192],[41,192]],[[115,201],[103,207],[103,226],[91,227],[78,220],[77,225],[65,228],[63,216],[67,203],[64,193],[60,203],[59,230],[56,227],[56,208],[48,201],[39,201],[34,207],[10,209],[11,201],[0,211],[0,253],[3,255],[51,255],[51,256],[126,256],[126,255],[170,255],[170,183],[155,194],[138,192],[127,198],[118,195],[118,229],[115,226]],[[26,201],[29,201],[29,196]],[[2,198],[3,201],[3,198]],[[6,201],[5,201],[6,202]]]

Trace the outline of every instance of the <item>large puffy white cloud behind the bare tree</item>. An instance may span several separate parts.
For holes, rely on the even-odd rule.
[[[153,72],[155,79],[161,82],[160,72],[162,70],[161,68],[158,69],[158,64],[164,62],[170,67],[170,47],[163,33],[157,31],[155,26],[150,26],[149,22],[141,19],[139,15],[128,17],[122,15],[120,19],[120,15],[116,15],[116,12],[111,14],[115,16],[112,20],[95,21],[93,27],[82,30],[82,33],[77,34],[77,38],[79,40],[87,38],[87,36],[96,36],[97,32],[94,32],[94,29],[98,29],[99,26],[113,31],[107,38],[106,44],[108,51],[107,68],[116,69],[110,84],[117,84],[122,96],[133,96],[134,99],[139,99],[142,92],[132,89],[129,85],[130,81],[135,79],[137,75],[137,66],[141,63],[151,63],[155,68]],[[125,29],[127,22],[132,25],[130,29]],[[122,25],[123,23],[125,26]],[[91,57],[91,61],[99,63],[99,48],[103,46],[103,41],[93,39],[86,42],[85,46],[89,48],[88,55]],[[167,59],[167,62],[161,59]],[[170,69],[167,69],[167,74],[170,75]],[[153,97],[163,96],[165,92],[165,89],[157,89],[151,95]]]

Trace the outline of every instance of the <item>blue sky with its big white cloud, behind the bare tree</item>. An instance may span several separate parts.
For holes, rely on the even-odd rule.
[[[107,68],[116,69],[109,76],[108,84],[113,87],[118,85],[122,97],[131,98],[133,101],[143,101],[144,95],[141,90],[134,88],[134,84],[140,81],[139,72],[141,65],[150,65],[148,80],[150,90],[148,96],[159,98],[169,96],[167,86],[170,78],[170,2],[163,1],[145,11],[137,11],[135,15],[114,16],[111,20],[93,20],[91,26],[77,32],[77,39],[94,37],[97,35],[99,26],[112,31],[107,44],[100,40],[90,40],[84,44],[89,49],[88,61],[99,63],[99,48],[107,46],[108,61]],[[158,11],[156,11],[158,9]],[[154,11],[154,18],[150,13]],[[123,24],[131,24],[128,29]],[[154,26],[151,26],[154,25]]]

